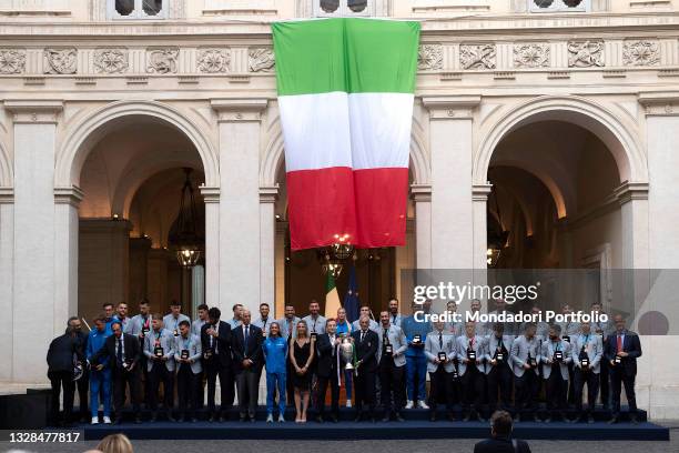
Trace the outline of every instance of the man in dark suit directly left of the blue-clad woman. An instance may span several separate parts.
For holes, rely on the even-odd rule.
[[[233,351],[233,369],[236,387],[239,390],[239,405],[241,422],[250,417],[255,421],[257,409],[259,378],[262,370],[262,329],[251,324],[250,310],[243,310],[241,325],[234,329],[231,339]]]

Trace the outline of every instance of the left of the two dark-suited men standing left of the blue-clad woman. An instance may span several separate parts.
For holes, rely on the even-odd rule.
[[[231,360],[231,325],[220,321],[222,312],[216,306],[207,311],[207,322],[201,328],[201,345],[203,352],[203,368],[207,376],[207,411],[210,421],[219,417],[223,422],[227,417],[227,410],[233,404],[233,370]],[[220,378],[222,404],[220,413],[215,409],[214,394],[216,379]]]

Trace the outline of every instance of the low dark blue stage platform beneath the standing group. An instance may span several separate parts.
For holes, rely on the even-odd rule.
[[[311,413],[310,413],[311,415]],[[354,412],[342,410],[340,423],[316,423],[310,420],[305,424],[294,422],[294,413],[286,413],[285,423],[266,423],[265,412],[257,412],[257,421],[240,422],[235,412],[224,423],[210,423],[204,415],[196,423],[176,423],[158,421],[134,424],[131,414],[120,425],[81,425],[87,440],[99,440],[112,433],[123,432],[133,440],[379,440],[379,439],[483,439],[489,435],[488,423],[449,422],[440,414],[442,420],[430,422],[428,411],[404,411],[405,422],[372,423],[363,421],[354,423]],[[640,414],[642,422],[631,424],[625,420],[609,425],[606,423],[608,413],[597,411],[594,424],[587,423],[535,423],[520,422],[514,427],[514,435],[527,440],[634,440],[634,441],[669,441],[669,429],[646,421],[646,413]],[[128,420],[130,419],[130,420]],[[626,417],[625,417],[626,419]],[[148,414],[144,414],[148,420]]]

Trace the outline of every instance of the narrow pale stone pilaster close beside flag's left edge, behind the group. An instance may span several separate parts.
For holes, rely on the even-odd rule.
[[[275,279],[275,240],[276,218],[275,203],[278,198],[277,187],[260,188],[260,302],[268,303],[272,316],[276,313]]]

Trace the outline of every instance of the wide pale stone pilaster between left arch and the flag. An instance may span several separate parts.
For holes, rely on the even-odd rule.
[[[235,302],[254,313],[260,305],[260,129],[266,103],[266,99],[211,101],[220,128],[219,305],[222,312]]]

